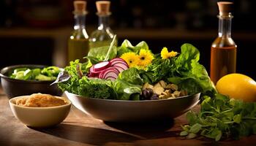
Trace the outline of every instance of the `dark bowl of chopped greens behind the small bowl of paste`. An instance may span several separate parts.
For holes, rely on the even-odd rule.
[[[61,70],[58,66],[37,64],[6,66],[0,71],[1,88],[9,98],[32,93],[61,96],[63,92],[57,85],[50,86]]]

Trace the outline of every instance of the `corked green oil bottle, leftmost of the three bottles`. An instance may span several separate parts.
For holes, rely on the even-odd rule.
[[[80,59],[89,52],[89,36],[86,32],[86,1],[74,1],[75,26],[68,40],[67,63]]]

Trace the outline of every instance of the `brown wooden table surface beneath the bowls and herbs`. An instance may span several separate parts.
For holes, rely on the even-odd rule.
[[[198,110],[196,107],[194,110]],[[238,141],[179,137],[185,115],[162,123],[104,123],[72,107],[68,117],[52,128],[32,129],[13,115],[8,98],[0,88],[0,145],[256,145],[256,136]]]

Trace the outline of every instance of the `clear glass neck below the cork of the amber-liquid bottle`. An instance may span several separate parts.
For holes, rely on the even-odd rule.
[[[219,15],[219,37],[231,37],[231,21],[233,16]]]

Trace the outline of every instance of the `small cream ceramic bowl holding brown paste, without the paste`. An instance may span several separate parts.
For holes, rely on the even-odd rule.
[[[56,107],[22,107],[16,103],[17,99],[25,96],[18,96],[9,100],[9,104],[15,118],[30,127],[48,127],[61,123],[69,114],[71,101],[67,98],[59,97],[67,101],[67,104]]]

